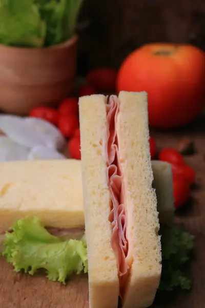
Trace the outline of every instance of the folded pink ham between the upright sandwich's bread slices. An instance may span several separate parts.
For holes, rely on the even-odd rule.
[[[115,126],[118,112],[118,99],[115,95],[111,95],[107,104],[106,151],[108,183],[111,195],[111,213],[109,221],[111,222],[112,229],[111,247],[117,260],[118,275],[121,277],[127,274],[129,266],[126,262],[126,257],[128,255],[128,241],[126,235],[124,187]]]

